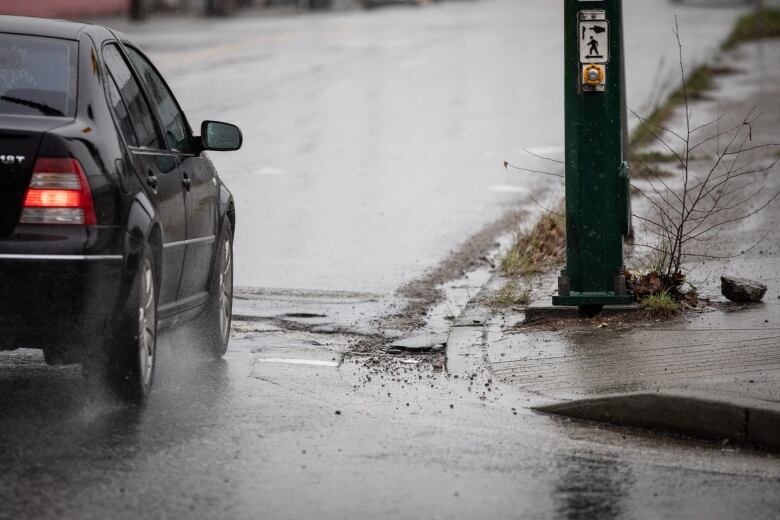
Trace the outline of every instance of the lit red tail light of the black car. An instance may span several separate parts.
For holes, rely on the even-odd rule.
[[[87,176],[76,159],[46,157],[35,161],[19,222],[97,224]]]

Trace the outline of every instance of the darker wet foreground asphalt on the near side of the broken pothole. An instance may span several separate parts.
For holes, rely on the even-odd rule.
[[[536,415],[516,389],[445,374],[435,356],[344,357],[330,335],[302,345],[242,327],[217,363],[165,337],[143,410],[85,388],[78,368],[2,354],[0,518],[735,518],[780,505],[768,455]]]

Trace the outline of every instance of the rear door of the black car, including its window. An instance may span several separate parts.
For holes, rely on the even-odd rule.
[[[177,154],[170,152],[160,135],[143,89],[115,43],[102,49],[108,71],[106,93],[124,135],[133,169],[154,205],[161,223],[162,266],[158,308],[177,300],[186,251],[184,186]]]

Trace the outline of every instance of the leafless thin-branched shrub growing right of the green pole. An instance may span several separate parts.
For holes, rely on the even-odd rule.
[[[687,257],[736,258],[751,251],[768,236],[765,234],[756,244],[739,255],[718,256],[706,251],[692,251],[694,244],[706,244],[715,240],[720,230],[728,225],[745,221],[766,209],[780,198],[780,192],[766,195],[765,182],[761,176],[767,174],[780,162],[780,157],[766,164],[747,154],[766,151],[780,146],[776,143],[751,144],[754,124],[762,114],[752,107],[738,124],[721,128],[725,114],[703,124],[693,124],[693,110],[690,104],[690,90],[683,61],[683,44],[680,29],[675,17],[674,29],[677,40],[679,71],[682,85],[679,93],[682,97],[684,112],[684,130],[675,132],[660,124],[650,122],[634,114],[655,139],[670,153],[680,166],[681,186],[673,188],[651,167],[640,162],[641,171],[649,189],[635,189],[647,200],[652,215],[634,215],[643,224],[645,230],[654,236],[657,244],[634,244],[663,253],[662,269],[658,273],[666,280],[680,280],[682,262]],[[704,134],[696,139],[694,135]],[[667,140],[672,136],[681,143],[680,150],[675,149]],[[715,143],[716,156],[709,167],[701,174],[692,169],[693,152],[707,143]],[[678,282],[679,283],[679,282]]]

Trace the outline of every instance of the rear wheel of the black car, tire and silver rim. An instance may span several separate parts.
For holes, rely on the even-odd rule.
[[[87,377],[99,379],[114,397],[143,404],[152,389],[157,358],[157,284],[147,246],[119,326],[99,352],[85,362]]]

